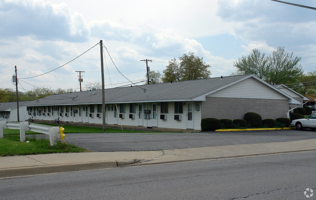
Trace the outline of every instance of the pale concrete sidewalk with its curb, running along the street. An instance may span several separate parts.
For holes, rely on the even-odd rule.
[[[0,177],[316,150],[316,139],[161,151],[61,153],[0,157]]]

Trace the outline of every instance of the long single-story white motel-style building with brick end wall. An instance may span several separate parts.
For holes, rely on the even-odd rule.
[[[144,90],[148,88],[148,91]],[[200,131],[202,118],[243,119],[246,112],[265,118],[287,117],[301,102],[254,75],[105,89],[106,127]],[[102,124],[102,91],[50,95],[27,102],[38,121]]]

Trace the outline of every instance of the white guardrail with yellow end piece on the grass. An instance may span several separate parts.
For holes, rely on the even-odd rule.
[[[7,122],[0,121],[0,138],[3,138],[3,129],[19,129],[20,130],[20,141],[25,141],[25,131],[31,130],[38,133],[44,133],[49,135],[49,141],[51,146],[56,144],[57,140],[64,139],[63,127],[59,126],[49,126],[43,124],[35,124],[30,122]],[[60,134],[60,129],[62,129],[62,134]],[[63,138],[61,138],[63,135]]]

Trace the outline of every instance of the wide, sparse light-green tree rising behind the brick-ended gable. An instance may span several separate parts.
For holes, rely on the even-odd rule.
[[[303,75],[304,71],[298,63],[300,60],[300,57],[293,56],[293,52],[289,54],[284,50],[284,47],[278,47],[267,58],[258,49],[253,49],[250,55],[234,62],[237,72],[232,75],[253,74],[271,85],[289,84]]]

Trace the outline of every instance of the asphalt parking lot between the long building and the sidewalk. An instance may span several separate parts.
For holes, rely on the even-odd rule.
[[[78,133],[70,143],[90,151],[143,151],[315,139],[311,130],[257,130],[200,133]]]

